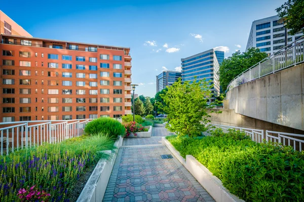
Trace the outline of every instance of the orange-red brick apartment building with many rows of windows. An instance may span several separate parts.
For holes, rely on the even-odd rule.
[[[0,121],[131,114],[129,47],[13,35],[14,25],[0,35]]]

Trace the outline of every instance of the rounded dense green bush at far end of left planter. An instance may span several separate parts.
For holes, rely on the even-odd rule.
[[[119,121],[108,118],[100,117],[89,122],[85,128],[86,134],[95,135],[95,134],[105,134],[109,135],[111,138],[116,138],[119,135],[125,135],[125,127]]]

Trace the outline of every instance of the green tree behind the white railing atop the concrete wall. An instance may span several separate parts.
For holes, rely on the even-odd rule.
[[[245,53],[237,51],[232,54],[231,57],[224,59],[222,64],[219,66],[218,71],[219,82],[222,90],[225,91],[230,81],[232,81],[236,76],[264,58],[267,58],[266,53],[260,52],[259,48],[252,47]]]

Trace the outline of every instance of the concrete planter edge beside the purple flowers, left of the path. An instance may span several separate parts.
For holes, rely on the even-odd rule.
[[[107,183],[109,181],[119,147],[123,144],[123,137],[119,136],[114,145],[117,147],[114,151],[105,151],[110,154],[108,160],[101,159],[97,163],[89,180],[79,195],[77,202],[97,202],[102,201]]]

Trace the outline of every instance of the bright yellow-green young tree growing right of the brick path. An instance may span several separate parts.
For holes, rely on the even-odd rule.
[[[180,78],[168,87],[167,93],[161,95],[165,105],[160,105],[169,120],[166,127],[180,136],[193,137],[206,131],[207,98],[211,95],[211,87],[206,80],[195,79],[193,83],[185,81],[182,84]]]

